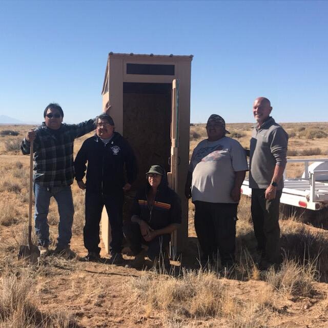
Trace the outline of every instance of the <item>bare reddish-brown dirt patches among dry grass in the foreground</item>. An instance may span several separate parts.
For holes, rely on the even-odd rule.
[[[24,229],[19,224],[16,229]],[[4,240],[13,237],[12,227],[2,227],[0,238]],[[131,304],[129,289],[126,286],[131,279],[143,275],[152,275],[151,271],[138,271],[125,267],[131,257],[124,256],[126,261],[120,265],[111,264],[109,256],[103,251],[101,256],[108,258],[107,263],[81,262],[78,259],[64,260],[49,256],[37,269],[37,280],[31,286],[37,299],[38,309],[43,313],[68,312],[80,328],[95,327],[166,327],[167,319],[162,313],[145,314],[140,304]],[[84,256],[82,236],[72,238],[72,249],[77,256]],[[0,256],[6,256],[9,261],[17,255],[17,249]],[[17,262],[23,266],[23,262]],[[178,270],[178,266],[176,267]],[[256,299],[261,294],[265,282],[257,280],[240,281],[234,278],[225,279],[229,291],[244,302]],[[327,327],[328,320],[328,286],[326,283],[314,283],[311,297],[290,297],[281,295],[275,306],[275,315],[267,322],[268,327],[281,328],[315,328]],[[227,319],[185,318],[176,323],[180,326],[202,327],[232,327]],[[218,325],[220,322],[220,325]]]

